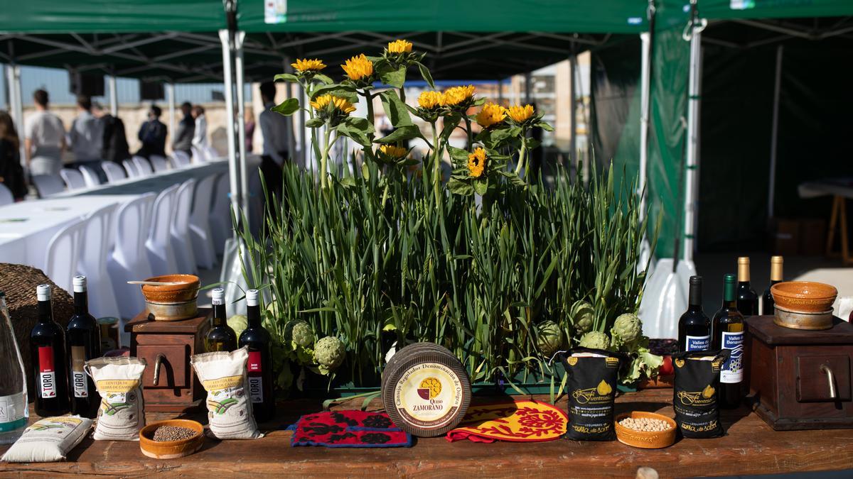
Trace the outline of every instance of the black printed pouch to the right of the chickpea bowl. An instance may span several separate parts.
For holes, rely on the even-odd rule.
[[[672,356],[676,370],[672,407],[682,436],[705,439],[722,436],[717,395],[720,368],[730,351],[690,351]]]

